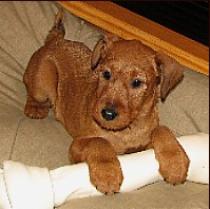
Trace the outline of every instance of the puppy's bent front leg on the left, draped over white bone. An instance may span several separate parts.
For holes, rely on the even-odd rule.
[[[74,140],[70,147],[74,162],[86,161],[90,180],[102,193],[119,192],[123,181],[120,162],[111,144],[103,138]]]

